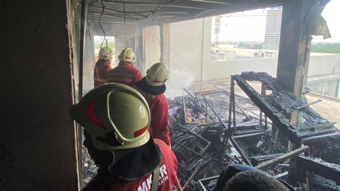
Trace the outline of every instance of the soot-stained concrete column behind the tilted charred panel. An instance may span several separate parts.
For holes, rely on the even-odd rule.
[[[302,91],[307,84],[312,36],[308,34],[306,19],[312,2],[283,0],[277,80],[300,98],[303,98]],[[299,115],[299,111],[285,114],[292,123],[299,121]],[[300,145],[290,144],[289,148],[294,150]]]

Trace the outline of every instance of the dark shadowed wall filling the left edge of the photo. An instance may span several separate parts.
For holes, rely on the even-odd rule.
[[[68,7],[1,1],[0,190],[78,190]]]

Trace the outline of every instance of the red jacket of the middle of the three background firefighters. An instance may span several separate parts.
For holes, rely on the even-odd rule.
[[[143,78],[140,71],[126,62],[119,62],[118,66],[110,71],[108,83],[129,85]]]

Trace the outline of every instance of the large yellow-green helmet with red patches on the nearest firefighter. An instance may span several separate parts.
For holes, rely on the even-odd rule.
[[[71,106],[70,114],[89,132],[99,150],[134,148],[150,138],[151,116],[146,100],[122,84],[94,88]]]

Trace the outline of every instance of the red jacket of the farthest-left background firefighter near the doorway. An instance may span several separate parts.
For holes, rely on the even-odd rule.
[[[99,59],[96,63],[93,73],[93,79],[95,80],[95,88],[97,86],[107,84],[109,78],[109,72],[112,70],[111,63],[104,59]]]

